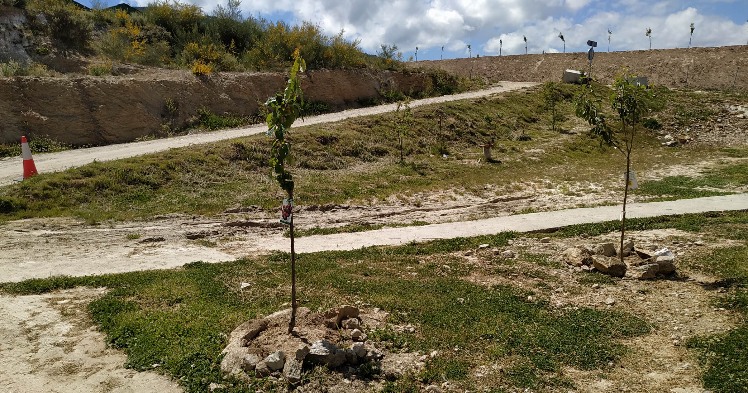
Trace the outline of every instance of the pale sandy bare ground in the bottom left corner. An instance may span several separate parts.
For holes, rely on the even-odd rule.
[[[13,393],[179,393],[153,371],[123,367],[85,311],[104,289],[0,296],[0,391]]]

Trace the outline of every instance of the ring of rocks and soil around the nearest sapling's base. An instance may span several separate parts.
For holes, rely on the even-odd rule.
[[[364,334],[358,308],[352,305],[322,313],[299,307],[292,334],[288,333],[290,317],[289,308],[234,329],[223,350],[221,371],[237,377],[282,376],[297,383],[307,366],[356,366],[384,357]]]

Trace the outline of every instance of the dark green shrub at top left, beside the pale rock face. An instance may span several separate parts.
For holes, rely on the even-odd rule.
[[[88,49],[93,23],[84,10],[65,0],[28,0],[29,13],[46,17],[45,26],[56,46],[64,49]]]

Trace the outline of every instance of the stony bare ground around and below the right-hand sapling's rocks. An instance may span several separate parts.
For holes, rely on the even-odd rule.
[[[599,237],[583,239],[565,238],[542,244],[536,239],[519,239],[500,248],[534,255],[549,255],[558,258],[568,247],[582,243],[614,242],[619,234],[611,233]],[[719,334],[733,329],[741,317],[733,311],[714,308],[712,299],[724,289],[715,285],[716,278],[687,271],[681,259],[698,257],[720,247],[737,246],[735,240],[708,240],[705,246],[679,247],[684,238],[696,239],[693,234],[675,229],[653,231],[629,231],[628,237],[637,246],[656,245],[669,247],[675,253],[678,276],[656,281],[625,280],[616,285],[580,284],[577,281],[587,273],[571,272],[568,269],[548,269],[544,272],[554,277],[526,278],[524,275],[471,275],[466,278],[475,284],[515,285],[533,291],[536,299],[545,299],[552,305],[573,312],[574,307],[604,308],[630,312],[650,323],[652,332],[621,342],[631,350],[621,362],[608,365],[600,371],[583,371],[565,368],[565,377],[577,384],[577,392],[671,392],[670,389],[684,389],[687,393],[702,393],[703,372],[695,354],[680,344],[695,335]],[[680,240],[676,240],[680,239]],[[675,240],[675,242],[674,242]],[[485,255],[492,252],[478,252],[470,257],[457,253],[466,264],[488,263],[491,258]],[[538,266],[522,262],[515,266],[518,270],[538,269]],[[539,285],[545,284],[545,285]],[[614,305],[606,305],[606,299],[616,300]],[[674,344],[678,341],[678,344]],[[482,368],[476,373],[486,380],[499,377],[498,366]],[[498,376],[497,376],[498,374]]]

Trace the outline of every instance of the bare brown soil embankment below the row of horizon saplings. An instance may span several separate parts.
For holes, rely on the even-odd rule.
[[[461,76],[546,82],[560,81],[563,70],[587,70],[589,61],[586,52],[574,52],[417,61],[414,65],[438,67]],[[610,83],[623,66],[643,72],[650,83],[669,88],[684,88],[688,71],[689,88],[727,90],[735,82],[736,91],[748,91],[747,45],[595,52],[592,73],[601,82]]]

